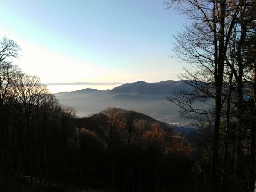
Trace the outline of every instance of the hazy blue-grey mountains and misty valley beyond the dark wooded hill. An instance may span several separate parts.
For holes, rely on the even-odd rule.
[[[167,101],[166,96],[170,96],[174,90],[189,88],[183,81],[137,81],[112,90],[82,89],[55,95],[62,104],[74,107],[80,117],[98,113],[108,106],[116,106],[144,113],[163,122],[183,124],[191,120],[180,118],[178,107]]]

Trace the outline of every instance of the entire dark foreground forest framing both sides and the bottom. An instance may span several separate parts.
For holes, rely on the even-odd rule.
[[[39,77],[12,64],[21,48],[3,37],[1,191],[255,191],[256,1],[165,5],[190,20],[174,36],[173,57],[191,65],[179,76],[191,88],[166,99],[193,120],[193,137],[116,107],[76,118]]]

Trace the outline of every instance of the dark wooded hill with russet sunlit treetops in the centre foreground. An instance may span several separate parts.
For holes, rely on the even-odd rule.
[[[79,165],[73,166],[73,174],[79,171],[81,182],[120,191],[174,191],[194,179],[192,144],[175,134],[172,125],[114,107],[74,118],[71,125],[75,134],[69,147],[77,151],[73,155]]]

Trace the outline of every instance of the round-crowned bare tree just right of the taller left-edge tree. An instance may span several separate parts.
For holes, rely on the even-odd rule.
[[[34,143],[38,142],[38,127],[35,125],[37,125],[38,110],[41,102],[44,100],[44,95],[49,94],[49,92],[40,83],[40,79],[37,76],[25,73],[18,73],[11,86],[10,99],[20,111],[20,122],[24,122],[26,137],[29,141],[27,147],[29,148],[28,161],[30,181],[32,183],[32,176],[34,175],[35,181],[38,176],[36,166],[37,145],[34,145]]]

